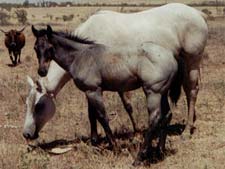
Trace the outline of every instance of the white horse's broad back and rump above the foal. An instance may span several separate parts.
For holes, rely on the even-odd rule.
[[[190,36],[189,32],[198,35],[200,32],[198,38],[193,37],[191,40],[194,39],[196,44],[205,44],[207,25],[201,12],[173,3],[131,14],[99,11],[80,25],[75,34],[108,46],[127,46],[151,41],[177,54],[178,49],[188,46],[185,43],[189,41],[184,40]]]

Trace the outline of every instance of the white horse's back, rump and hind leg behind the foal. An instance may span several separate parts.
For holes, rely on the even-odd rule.
[[[205,19],[204,13],[192,7],[171,3],[132,14],[99,11],[74,33],[106,46],[151,41],[170,49],[176,58],[183,58],[186,67],[183,89],[188,105],[184,135],[189,137],[195,129],[199,66],[208,37]]]

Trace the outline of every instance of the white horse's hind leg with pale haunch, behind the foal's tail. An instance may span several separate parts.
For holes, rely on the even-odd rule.
[[[190,134],[193,134],[195,129],[195,104],[199,90],[198,81],[200,62],[202,60],[202,53],[206,46],[207,38],[208,27],[204,20],[201,19],[198,23],[196,22],[196,25],[189,28],[182,45],[183,53],[181,53],[181,57],[184,58],[185,64],[183,87],[188,104],[188,118],[184,135],[186,135],[186,131],[188,131],[189,137]]]

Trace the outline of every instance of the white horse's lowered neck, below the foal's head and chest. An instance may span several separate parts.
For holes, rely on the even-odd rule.
[[[56,96],[70,79],[70,75],[65,70],[55,61],[51,61],[47,76],[40,78],[39,82],[44,85],[47,93]]]

